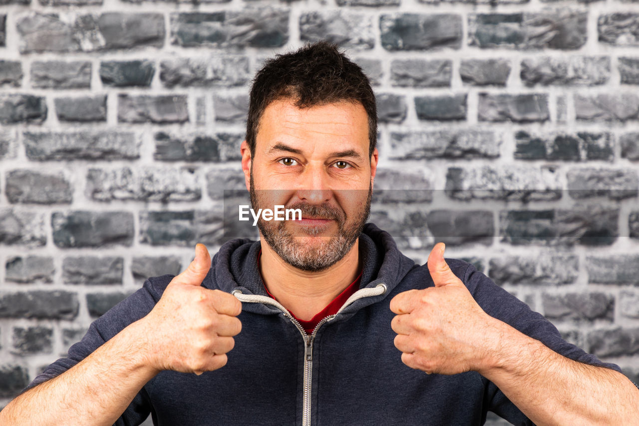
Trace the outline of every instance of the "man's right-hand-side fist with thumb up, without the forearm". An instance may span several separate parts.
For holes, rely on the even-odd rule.
[[[435,287],[408,290],[390,301],[390,310],[397,314],[390,324],[397,333],[395,347],[404,364],[427,374],[481,372],[491,365],[491,347],[498,344],[498,327],[491,327],[497,320],[450,271],[444,248],[440,242],[428,256]]]

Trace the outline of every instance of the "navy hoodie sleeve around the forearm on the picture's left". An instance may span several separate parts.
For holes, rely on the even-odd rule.
[[[45,368],[22,392],[72,368],[129,324],[146,316],[160,299],[164,288],[172,278],[173,275],[164,275],[144,281],[142,288],[93,321],[82,340],[69,348],[66,358],[60,358]],[[96,384],[96,386],[100,385]],[[148,394],[145,388],[142,388],[114,424],[118,426],[139,425],[148,417],[151,409]]]

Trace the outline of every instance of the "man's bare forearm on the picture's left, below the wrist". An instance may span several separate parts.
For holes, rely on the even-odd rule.
[[[88,357],[15,398],[2,425],[112,425],[157,371],[145,362],[140,321]]]

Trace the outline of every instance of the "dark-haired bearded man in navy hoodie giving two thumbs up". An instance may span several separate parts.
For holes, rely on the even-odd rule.
[[[266,61],[242,169],[259,221],[151,278],[36,377],[3,425],[636,425],[639,390],[436,244],[402,255],[368,216],[371,87],[334,45]],[[240,303],[240,301],[242,303]],[[398,351],[399,350],[399,351]]]

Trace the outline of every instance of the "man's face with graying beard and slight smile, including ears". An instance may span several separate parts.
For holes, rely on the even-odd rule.
[[[252,208],[302,210],[301,221],[259,219],[261,237],[285,262],[321,271],[353,247],[366,223],[377,165],[368,117],[357,103],[266,107],[255,153],[242,146]]]

